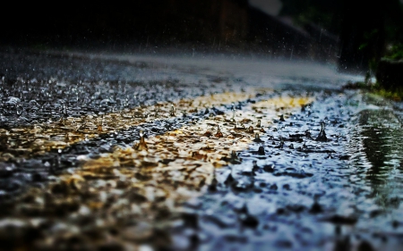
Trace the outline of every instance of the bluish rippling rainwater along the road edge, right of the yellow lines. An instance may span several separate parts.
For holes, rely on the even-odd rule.
[[[399,163],[400,146],[391,150],[384,141],[394,137],[389,131],[378,134],[382,142],[363,134],[372,127],[355,115],[363,107],[368,105],[361,96],[318,95],[301,113],[273,123],[261,135],[264,144],[253,144],[239,155],[242,163],[217,172],[218,191],[186,207],[200,219],[200,250],[401,247],[401,229],[393,227],[403,212],[395,197],[402,191],[400,174],[393,172],[396,165],[390,169],[390,163]],[[326,140],[317,141],[321,121],[326,121]],[[261,145],[265,155],[259,155]],[[385,157],[379,161],[374,152]],[[382,167],[374,167],[371,159]],[[383,188],[373,182],[385,178],[395,182]],[[395,194],[388,190],[392,187]],[[385,198],[392,204],[385,204]]]

